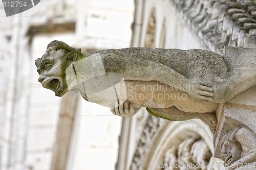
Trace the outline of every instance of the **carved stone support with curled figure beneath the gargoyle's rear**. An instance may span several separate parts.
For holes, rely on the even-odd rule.
[[[230,169],[256,169],[256,88],[220,105],[215,157]]]

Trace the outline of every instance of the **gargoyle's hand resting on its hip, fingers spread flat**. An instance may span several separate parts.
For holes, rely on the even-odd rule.
[[[194,98],[200,100],[211,101],[214,97],[214,90],[210,85],[206,85],[205,83],[195,83],[194,92],[191,92]]]

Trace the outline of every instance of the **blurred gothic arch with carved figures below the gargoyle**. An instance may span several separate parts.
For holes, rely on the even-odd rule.
[[[213,156],[212,134],[200,120],[169,122],[150,116],[147,120],[138,148],[132,162],[131,170],[185,169],[207,167],[222,169],[221,160]],[[214,165],[219,165],[214,167]],[[173,168],[176,167],[176,168]],[[177,168],[180,167],[180,168]],[[202,168],[203,169],[203,168]]]

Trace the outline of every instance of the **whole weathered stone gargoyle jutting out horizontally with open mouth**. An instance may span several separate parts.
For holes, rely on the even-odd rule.
[[[256,85],[255,52],[225,46],[222,56],[206,50],[143,47],[81,53],[81,49],[52,41],[35,64],[38,81],[57,96],[80,92],[83,99],[109,107],[123,117],[131,117],[146,107],[151,114],[169,120],[200,118],[215,132],[217,120],[224,121],[218,116],[220,107]],[[255,161],[251,157],[254,145],[244,141],[255,141],[250,128],[241,125],[240,129],[232,129],[229,138],[221,137],[217,157],[226,164]],[[226,148],[241,149],[241,154],[232,156]]]

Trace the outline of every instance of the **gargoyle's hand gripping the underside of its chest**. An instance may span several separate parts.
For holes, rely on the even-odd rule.
[[[123,103],[120,101],[120,103]],[[115,102],[115,109],[112,109],[111,112],[115,115],[122,116],[122,117],[132,117],[135,113],[137,113],[139,109],[135,107],[134,104],[124,102],[123,104],[119,105],[119,103]]]

